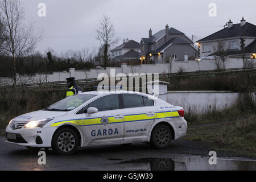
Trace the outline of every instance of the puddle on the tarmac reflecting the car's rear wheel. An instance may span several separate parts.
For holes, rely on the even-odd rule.
[[[256,160],[217,158],[217,164],[209,164],[207,157],[144,158],[111,164],[110,170],[146,171],[255,171]]]

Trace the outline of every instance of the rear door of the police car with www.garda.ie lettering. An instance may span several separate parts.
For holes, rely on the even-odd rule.
[[[138,94],[122,94],[124,117],[124,140],[146,139],[155,121],[154,100]]]

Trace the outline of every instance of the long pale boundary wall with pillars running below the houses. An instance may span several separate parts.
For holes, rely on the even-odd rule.
[[[256,67],[256,59],[254,61],[254,68]],[[223,66],[222,66],[223,67]],[[225,68],[243,68],[242,59],[230,58],[225,61]],[[156,63],[156,64],[142,64],[137,66],[130,66],[127,64],[122,64],[121,67],[107,67],[106,69],[90,69],[89,71],[76,71],[75,68],[70,68],[69,72],[53,72],[51,74],[39,74],[34,76],[18,75],[18,84],[31,84],[40,82],[53,82],[53,81],[65,81],[65,78],[75,77],[76,80],[86,79],[86,78],[97,78],[100,73],[106,73],[110,75],[110,69],[115,70],[115,75],[118,73],[177,73],[180,69],[184,72],[193,71],[208,71],[216,69],[216,64],[214,60],[188,60],[188,61],[171,61],[170,63]],[[0,78],[0,85],[13,85],[12,78]]]

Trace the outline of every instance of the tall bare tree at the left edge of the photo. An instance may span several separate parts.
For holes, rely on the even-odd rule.
[[[41,40],[42,33],[34,35],[32,22],[24,26],[24,11],[20,0],[0,0],[0,13],[3,30],[0,34],[5,42],[3,51],[13,57],[14,86],[16,86],[16,63],[20,57],[27,56],[31,49]]]

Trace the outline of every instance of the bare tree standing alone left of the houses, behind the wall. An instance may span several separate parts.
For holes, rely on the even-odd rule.
[[[100,40],[101,47],[104,50],[103,60],[104,68],[109,61],[110,47],[118,42],[118,38],[115,38],[114,24],[110,21],[109,16],[103,15],[102,19],[96,28],[97,36],[96,39]]]

